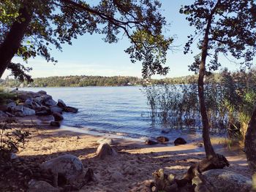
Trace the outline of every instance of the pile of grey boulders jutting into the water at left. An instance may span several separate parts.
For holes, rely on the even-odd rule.
[[[50,121],[49,126],[59,127],[63,120],[63,112],[78,112],[75,107],[67,106],[61,99],[54,101],[53,97],[46,91],[18,91],[14,90],[15,100],[7,99],[6,104],[0,106],[0,118],[26,116],[52,116],[54,120]]]

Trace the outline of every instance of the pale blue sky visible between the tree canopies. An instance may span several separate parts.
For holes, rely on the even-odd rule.
[[[91,0],[92,1],[92,0]],[[165,16],[167,26],[165,34],[175,37],[173,46],[175,50],[169,50],[167,53],[167,63],[170,72],[166,76],[154,76],[153,78],[180,77],[188,74],[188,65],[194,61],[194,55],[198,53],[195,50],[194,55],[184,55],[184,45],[187,42],[187,36],[193,33],[193,28],[189,26],[185,16],[179,14],[181,5],[191,4],[192,0],[160,0],[162,2],[162,15]],[[30,72],[33,78],[66,76],[66,75],[100,75],[100,76],[135,76],[141,77],[142,66],[139,62],[132,64],[129,55],[124,50],[129,47],[129,41],[126,37],[120,39],[117,43],[108,44],[102,40],[103,36],[99,34],[85,34],[78,39],[72,40],[72,45],[63,45],[63,51],[53,50],[53,57],[59,62],[56,65],[47,63],[43,58],[37,57],[29,59],[25,66],[32,67]],[[20,58],[14,58],[12,61],[20,62]],[[229,61],[223,61],[223,66],[230,66]],[[4,72],[1,78],[7,77],[10,72]]]

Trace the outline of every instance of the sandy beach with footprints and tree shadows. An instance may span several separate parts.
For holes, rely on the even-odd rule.
[[[152,173],[158,169],[179,178],[189,166],[204,157],[203,147],[198,142],[178,146],[146,145],[138,139],[50,128],[46,126],[47,119],[30,117],[19,118],[18,121],[21,125],[15,124],[17,128],[31,133],[24,148],[17,153],[28,164],[41,164],[59,155],[72,154],[80,158],[84,166],[93,169],[96,180],[84,185],[80,191],[147,191],[146,185],[153,179]],[[117,155],[100,159],[96,155],[97,141],[109,137],[113,139],[111,146]],[[242,150],[227,150],[227,147],[219,144],[214,147],[230,161],[230,167],[225,169],[251,177],[252,172],[248,169]]]

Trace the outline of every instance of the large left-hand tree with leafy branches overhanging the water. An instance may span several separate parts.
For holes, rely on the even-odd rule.
[[[166,74],[163,67],[172,38],[165,38],[165,18],[159,12],[159,1],[101,0],[91,5],[85,0],[2,0],[0,2],[0,77],[11,69],[20,80],[30,80],[30,69],[13,64],[17,55],[28,61],[42,56],[57,62],[50,55],[61,44],[72,45],[79,35],[105,34],[105,42],[118,42],[123,32],[132,43],[125,50],[132,62],[142,61],[143,76]]]

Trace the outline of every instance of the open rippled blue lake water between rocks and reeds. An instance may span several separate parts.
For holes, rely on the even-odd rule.
[[[160,125],[153,126],[148,115],[146,96],[141,87],[23,88],[26,91],[47,91],[54,100],[62,99],[78,108],[78,113],[64,113],[63,126],[86,128],[106,133],[122,133],[127,137],[163,135]],[[167,137],[195,138],[195,132],[184,135],[173,130]]]

